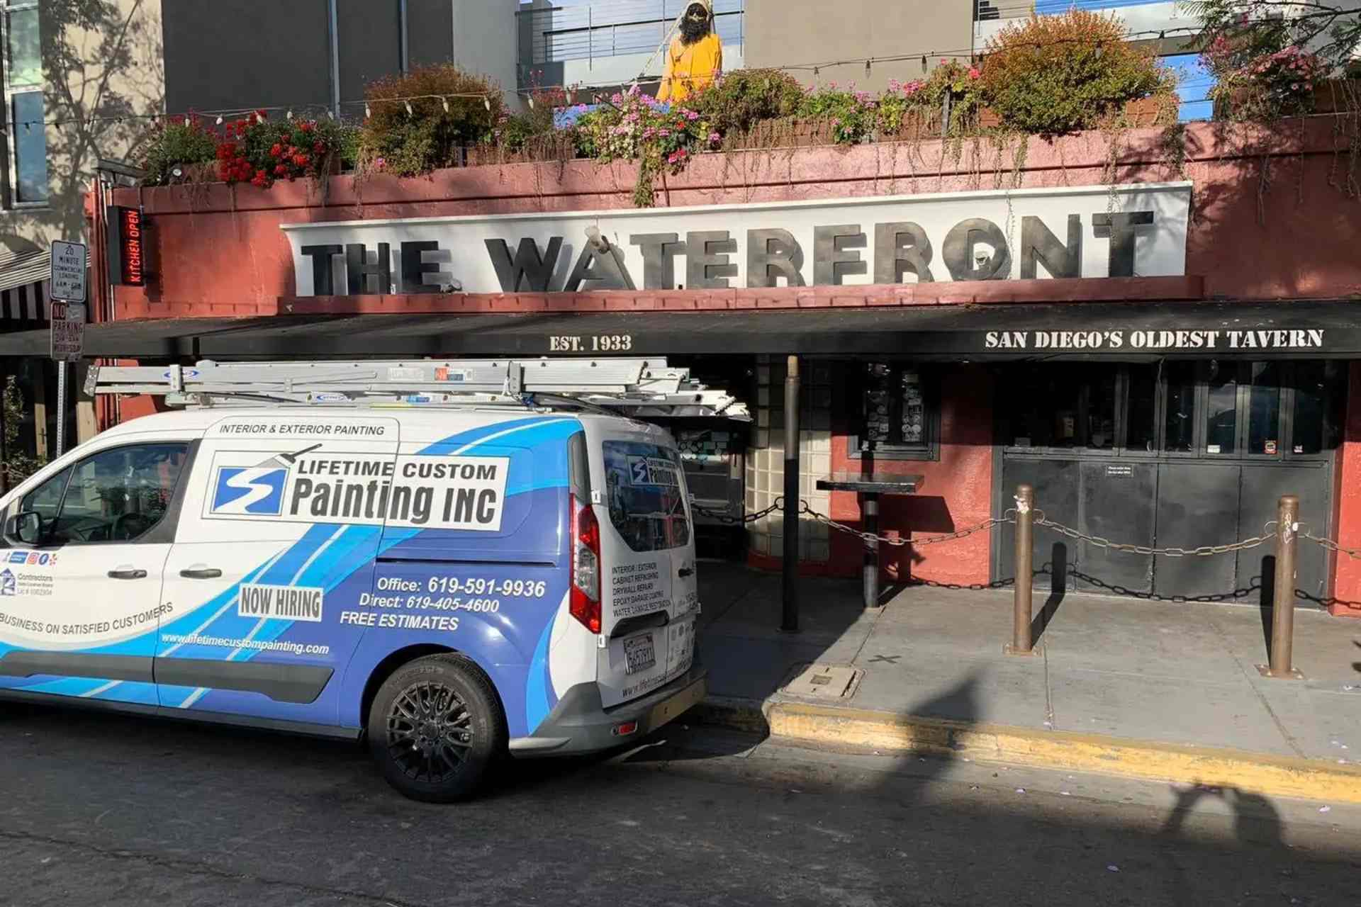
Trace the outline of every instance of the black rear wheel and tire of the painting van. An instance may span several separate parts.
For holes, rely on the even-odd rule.
[[[449,804],[482,787],[506,748],[506,722],[491,681],[472,661],[426,655],[378,688],[367,737],[389,785],[411,800]]]

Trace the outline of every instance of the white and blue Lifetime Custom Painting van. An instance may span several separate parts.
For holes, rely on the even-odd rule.
[[[163,412],[0,510],[0,698],[365,737],[452,801],[705,695],[685,472],[621,415]]]

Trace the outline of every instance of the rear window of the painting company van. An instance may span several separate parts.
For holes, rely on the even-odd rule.
[[[610,522],[633,551],[664,551],[690,541],[680,454],[636,441],[606,441]]]

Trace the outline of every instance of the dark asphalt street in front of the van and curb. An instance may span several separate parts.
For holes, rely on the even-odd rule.
[[[0,706],[0,764],[24,907],[1361,903],[1361,808],[685,723],[457,806],[354,745],[54,708]]]

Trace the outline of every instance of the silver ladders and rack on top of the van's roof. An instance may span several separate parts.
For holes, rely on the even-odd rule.
[[[206,359],[195,366],[91,367],[86,393],[151,394],[171,407],[516,405],[750,420],[746,404],[666,359]]]

